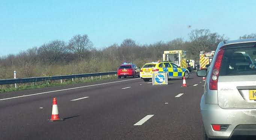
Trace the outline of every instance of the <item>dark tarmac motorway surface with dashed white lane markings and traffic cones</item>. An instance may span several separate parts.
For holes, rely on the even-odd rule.
[[[0,140],[201,140],[204,81],[125,78],[0,94]],[[57,90],[57,91],[56,91]],[[53,97],[62,122],[49,122]]]

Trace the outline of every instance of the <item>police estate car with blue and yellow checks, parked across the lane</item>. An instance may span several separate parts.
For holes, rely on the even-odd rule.
[[[186,68],[181,68],[177,66],[175,63],[168,61],[157,61],[146,63],[140,69],[140,78],[144,81],[149,81],[152,78],[152,74],[154,72],[167,72],[168,79],[170,78],[189,78],[189,71]]]

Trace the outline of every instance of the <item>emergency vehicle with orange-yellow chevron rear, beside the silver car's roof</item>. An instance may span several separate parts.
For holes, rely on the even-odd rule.
[[[199,65],[200,69],[206,69],[207,65],[209,65],[212,62],[212,57],[214,55],[215,51],[211,51],[206,53],[205,51],[200,51],[199,55]]]

